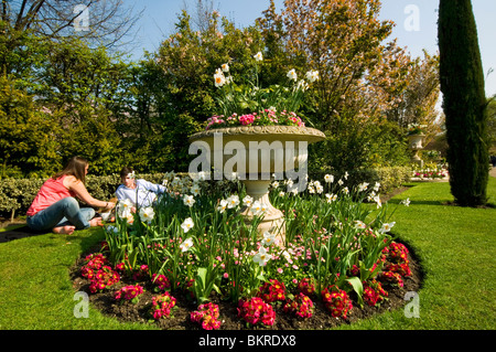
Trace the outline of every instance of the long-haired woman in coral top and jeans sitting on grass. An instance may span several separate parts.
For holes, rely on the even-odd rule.
[[[80,157],[72,158],[64,170],[43,183],[28,210],[28,226],[35,231],[52,230],[56,234],[72,234],[101,225],[93,207],[79,207],[76,198],[89,206],[112,209],[114,202],[94,199],[85,186],[88,162]]]

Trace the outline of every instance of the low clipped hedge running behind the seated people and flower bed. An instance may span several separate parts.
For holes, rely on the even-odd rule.
[[[332,172],[312,172],[309,177],[313,180],[323,180],[325,173]],[[153,173],[139,174],[138,177],[147,181],[162,184],[164,179],[171,180],[172,175],[184,177],[187,173]],[[388,167],[367,170],[353,170],[347,179],[348,184],[358,184],[360,182],[380,182],[380,193],[387,193],[390,190],[408,182],[411,175],[411,169],[408,167]],[[335,174],[337,178],[342,177]],[[40,179],[1,179],[0,180],[0,214],[13,220],[15,214],[24,215],[30,207],[34,196],[45,180]],[[120,184],[119,174],[105,177],[88,175],[86,188],[96,199],[109,200],[114,196],[117,186]],[[216,185],[218,186],[218,185]],[[225,184],[222,188],[229,190]],[[177,190],[181,192],[181,190]]]

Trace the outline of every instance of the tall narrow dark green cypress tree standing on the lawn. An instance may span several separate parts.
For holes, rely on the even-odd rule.
[[[486,97],[471,0],[440,0],[438,39],[451,193],[460,205],[483,205],[489,162]]]

